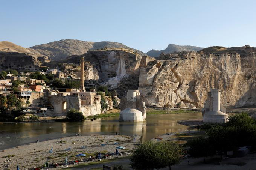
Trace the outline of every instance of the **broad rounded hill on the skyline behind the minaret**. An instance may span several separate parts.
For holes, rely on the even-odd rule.
[[[130,48],[122,43],[110,41],[90,42],[75,39],[63,39],[60,41],[49,42],[47,44],[35,45],[30,48],[37,50],[52,60],[61,60],[72,55],[82,55],[89,50],[102,48],[126,48],[137,51],[140,55],[145,55],[142,51]]]

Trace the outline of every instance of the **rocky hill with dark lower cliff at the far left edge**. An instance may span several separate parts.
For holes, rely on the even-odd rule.
[[[36,50],[8,41],[0,42],[0,68],[2,69],[35,70],[43,62],[49,62],[48,58]]]

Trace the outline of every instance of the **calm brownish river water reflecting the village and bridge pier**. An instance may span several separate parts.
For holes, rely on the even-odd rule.
[[[0,124],[0,150],[39,141],[81,135],[116,134],[141,135],[142,141],[167,132],[191,129],[178,120],[198,119],[201,113],[148,115],[145,122],[119,122],[119,117],[108,117],[85,122],[2,123]]]

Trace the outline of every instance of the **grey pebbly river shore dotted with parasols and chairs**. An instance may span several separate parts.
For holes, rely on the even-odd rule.
[[[30,143],[6,149],[3,152],[0,151],[0,169],[15,169],[19,165],[20,169],[26,170],[44,165],[47,159],[49,164],[53,162],[63,163],[66,156],[69,161],[74,161],[77,159],[75,155],[79,153],[86,154],[87,156],[84,158],[88,158],[98,152],[115,152],[118,146],[125,147],[125,149],[119,149],[119,152],[130,152],[136,147],[133,138],[132,136],[123,135],[74,136]],[[140,136],[136,136],[136,143],[140,143],[139,139]],[[119,144],[115,145],[115,142]],[[101,144],[106,145],[101,146]],[[66,151],[65,149],[70,146],[71,151]],[[82,146],[85,146],[85,148],[82,149]],[[52,147],[53,153],[49,153]]]

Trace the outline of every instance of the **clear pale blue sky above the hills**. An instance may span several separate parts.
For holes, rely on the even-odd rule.
[[[0,0],[0,41],[256,47],[255,0]]]

